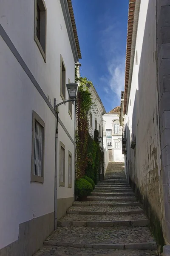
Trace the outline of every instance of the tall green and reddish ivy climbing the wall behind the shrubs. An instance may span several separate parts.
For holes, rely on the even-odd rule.
[[[97,139],[99,131],[95,130],[94,137],[90,132],[89,116],[91,111],[97,115],[97,108],[87,84],[91,87],[93,84],[87,78],[78,78],[77,72],[75,80],[79,83],[76,103],[76,179],[86,175],[97,183],[100,179],[100,168],[104,169],[104,157]]]

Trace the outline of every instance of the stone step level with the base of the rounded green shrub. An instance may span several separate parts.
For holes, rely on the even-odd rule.
[[[93,196],[90,195],[87,197],[88,201],[136,201],[134,196]]]

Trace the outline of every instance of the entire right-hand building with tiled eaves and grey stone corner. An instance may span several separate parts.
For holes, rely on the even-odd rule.
[[[170,244],[170,2],[129,2],[120,120],[125,172],[159,244]]]

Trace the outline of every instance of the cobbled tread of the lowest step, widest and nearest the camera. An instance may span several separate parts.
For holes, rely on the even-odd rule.
[[[85,244],[139,244],[148,242],[155,242],[148,227],[57,227],[57,230],[45,240],[45,245],[65,246],[66,244],[66,246],[72,246],[73,244],[83,244],[84,246]]]

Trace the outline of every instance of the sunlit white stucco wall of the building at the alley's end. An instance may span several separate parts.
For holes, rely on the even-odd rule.
[[[112,129],[113,132],[113,121],[119,120],[119,114],[105,114],[103,115],[103,133],[105,134],[105,131],[107,129]],[[122,127],[120,126],[120,131],[122,130]],[[119,142],[120,140],[120,142]],[[119,142],[120,148],[117,149],[115,148],[115,141]],[[104,145],[106,147],[107,145],[107,140],[106,136],[104,139]],[[113,161],[114,162],[124,162],[124,155],[122,154],[122,132],[120,132],[119,135],[113,135],[112,136],[112,146],[108,146],[108,150],[111,149],[113,153]],[[107,151],[108,152],[108,151]]]

